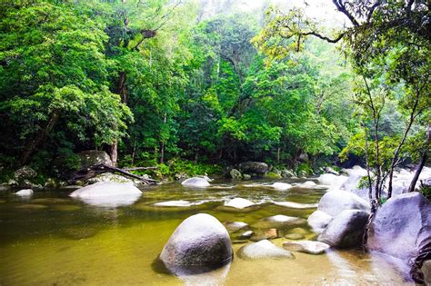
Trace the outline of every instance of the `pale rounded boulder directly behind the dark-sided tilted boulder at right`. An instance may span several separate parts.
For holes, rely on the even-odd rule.
[[[317,210],[336,216],[345,210],[370,212],[370,204],[352,192],[330,191],[320,199]]]

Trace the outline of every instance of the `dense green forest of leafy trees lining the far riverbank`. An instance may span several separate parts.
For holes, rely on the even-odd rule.
[[[209,2],[2,1],[3,170],[54,175],[85,150],[166,174],[350,159],[379,188],[426,164],[429,3],[333,1],[347,22],[322,26]]]

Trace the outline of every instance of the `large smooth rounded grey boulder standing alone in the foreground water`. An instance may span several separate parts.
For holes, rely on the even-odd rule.
[[[232,260],[229,233],[214,216],[198,213],[175,229],[160,254],[175,275],[211,271]]]

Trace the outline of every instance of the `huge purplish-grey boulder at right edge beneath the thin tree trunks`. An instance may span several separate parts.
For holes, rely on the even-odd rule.
[[[370,223],[366,247],[403,261],[431,245],[431,204],[419,192],[387,200]]]

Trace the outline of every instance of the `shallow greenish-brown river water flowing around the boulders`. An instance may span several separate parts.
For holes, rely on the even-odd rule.
[[[247,182],[248,183],[248,182]],[[71,191],[36,192],[29,199],[0,192],[0,285],[332,285],[403,284],[396,268],[381,257],[355,251],[323,255],[295,252],[295,260],[244,261],[236,255],[223,269],[178,278],[156,261],[175,227],[205,212],[220,222],[249,224],[267,216],[305,218],[313,209],[294,210],[264,203],[252,212],[221,207],[235,197],[254,202],[315,203],[316,189],[276,191],[241,182],[212,182],[216,188],[187,189],[179,183],[147,187],[136,202],[104,207],[73,200]],[[205,201],[191,207],[155,207],[155,202]],[[288,230],[279,230],[290,232]],[[307,226],[307,239],[316,235]],[[236,240],[236,235],[232,235]],[[285,238],[273,240],[281,246]],[[237,251],[244,243],[235,243]]]

